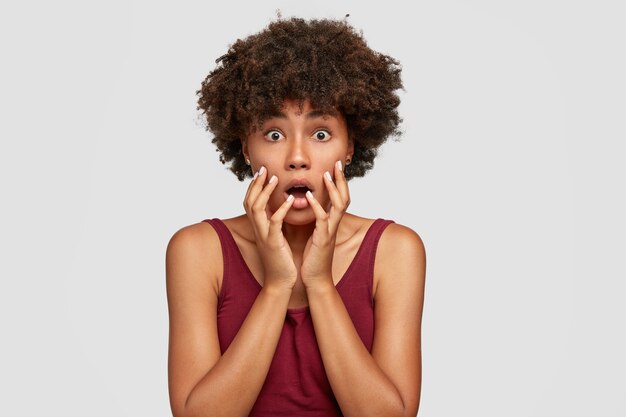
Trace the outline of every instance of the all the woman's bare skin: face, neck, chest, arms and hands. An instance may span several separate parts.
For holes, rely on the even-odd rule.
[[[415,416],[426,268],[421,239],[397,224],[388,226],[380,239],[371,353],[335,288],[373,221],[346,213],[350,195],[342,167],[353,147],[345,121],[317,114],[308,103],[299,112],[286,102],[282,114],[247,138],[243,151],[258,175],[244,198],[246,215],[225,224],[262,290],[221,355],[216,325],[223,273],[219,238],[207,223],[172,237],[166,266],[174,416],[248,415],[287,308],[304,305],[310,307],[326,374],[343,414]],[[306,180],[312,193],[290,198],[288,185],[294,179]]]

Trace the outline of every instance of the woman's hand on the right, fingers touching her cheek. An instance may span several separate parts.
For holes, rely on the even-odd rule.
[[[350,204],[348,182],[343,175],[341,162],[335,164],[335,182],[329,172],[324,174],[324,184],[330,196],[330,211],[307,192],[306,198],[315,213],[315,230],[304,248],[302,266],[300,268],[302,282],[309,289],[315,285],[333,283],[333,254],[339,222]]]

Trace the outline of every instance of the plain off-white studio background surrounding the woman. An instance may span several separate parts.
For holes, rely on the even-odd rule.
[[[425,242],[419,415],[626,415],[623,2],[409,4],[3,2],[0,415],[170,415],[165,248],[246,186],[195,92],[276,9],[403,65],[351,211]]]

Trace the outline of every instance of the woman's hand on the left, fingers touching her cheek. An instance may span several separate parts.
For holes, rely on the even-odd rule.
[[[267,202],[276,189],[278,177],[272,176],[265,185],[267,169],[261,167],[248,186],[243,206],[252,224],[257,249],[263,263],[263,287],[278,286],[293,289],[298,270],[289,243],[283,235],[283,219],[293,204],[293,196],[271,213]]]

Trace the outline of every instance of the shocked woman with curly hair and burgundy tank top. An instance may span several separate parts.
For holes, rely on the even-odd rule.
[[[398,63],[345,21],[278,20],[202,83],[245,214],[167,248],[175,417],[415,416],[420,237],[346,212],[348,180],[398,133]]]

